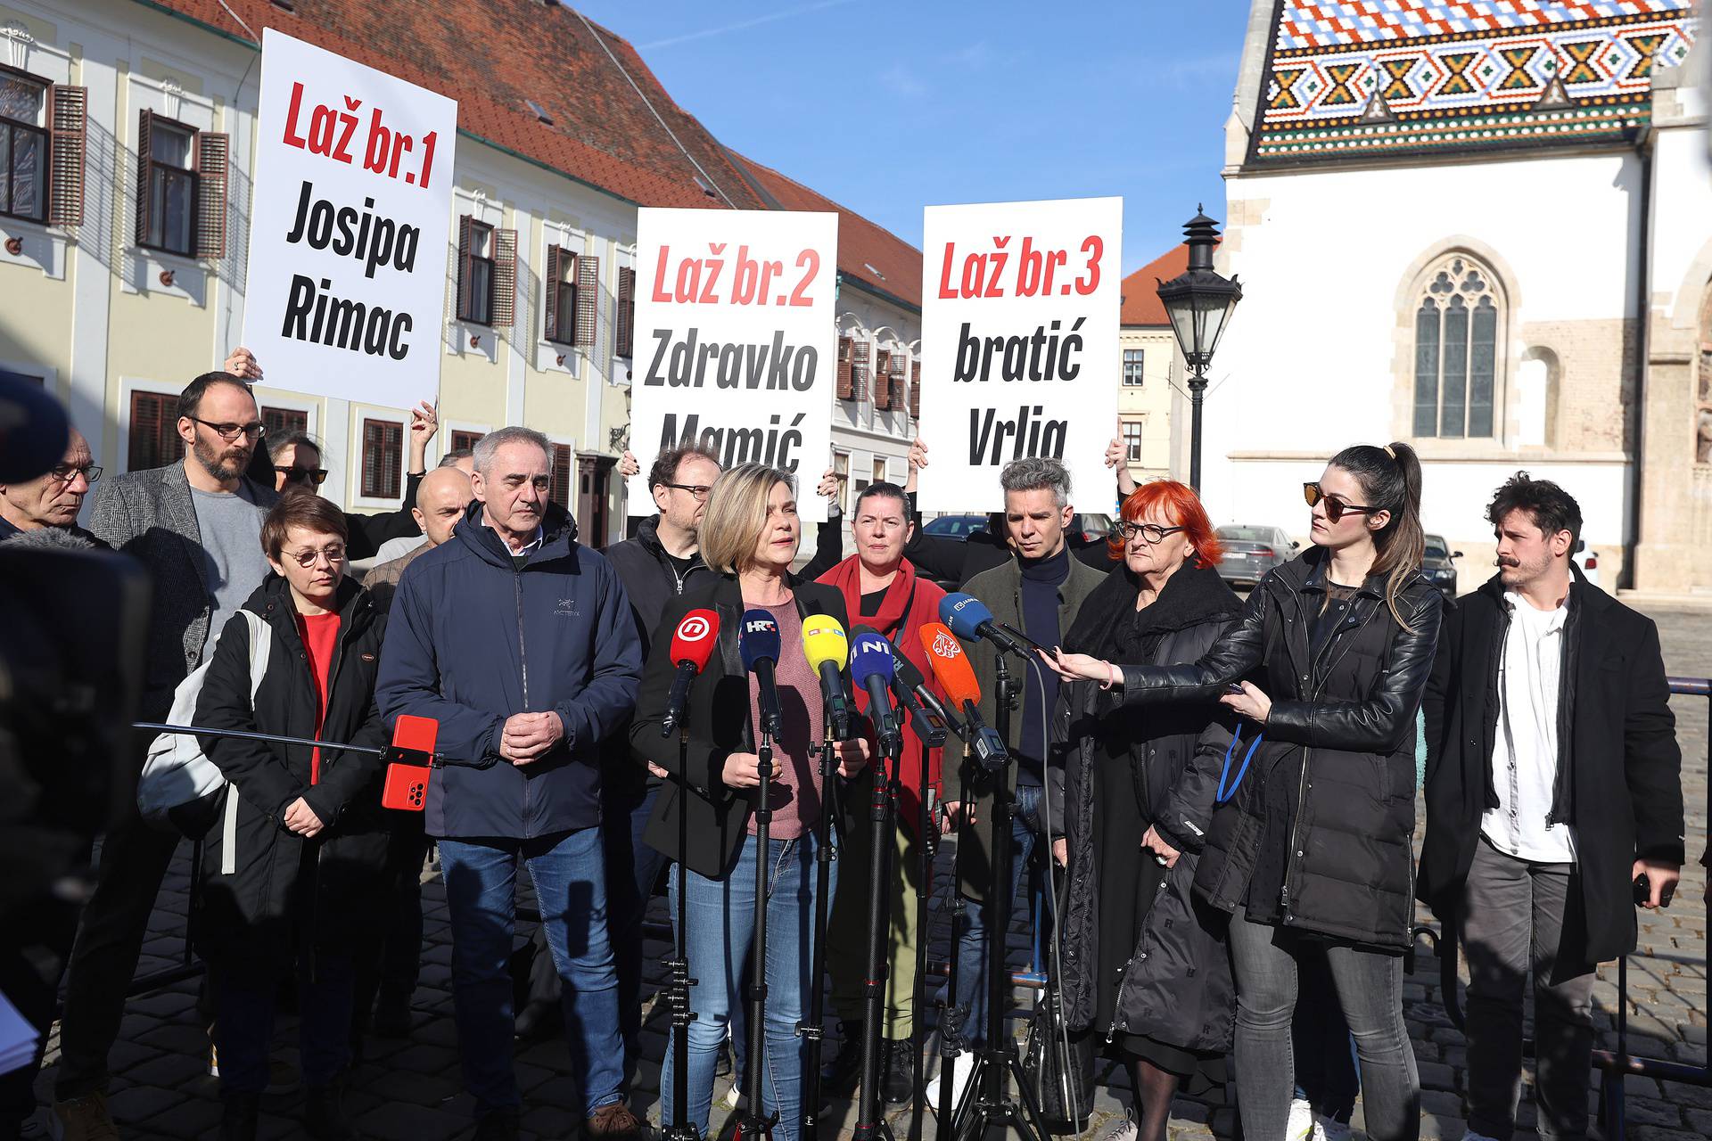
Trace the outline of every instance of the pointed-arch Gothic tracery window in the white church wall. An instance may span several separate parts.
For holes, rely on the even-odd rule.
[[[1414,435],[1491,438],[1501,298],[1489,269],[1457,253],[1426,275],[1414,311]]]

